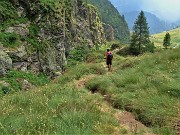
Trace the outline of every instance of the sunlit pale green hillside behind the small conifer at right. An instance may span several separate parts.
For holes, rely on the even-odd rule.
[[[180,28],[173,29],[167,32],[169,32],[169,34],[171,35],[171,47],[180,45]],[[151,40],[154,42],[155,46],[161,48],[163,47],[163,39],[165,35],[165,31],[159,34],[151,35]]]

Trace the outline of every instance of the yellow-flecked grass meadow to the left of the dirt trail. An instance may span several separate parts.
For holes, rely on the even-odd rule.
[[[103,99],[54,84],[0,100],[2,134],[112,134],[121,129]],[[19,115],[21,114],[21,115]]]

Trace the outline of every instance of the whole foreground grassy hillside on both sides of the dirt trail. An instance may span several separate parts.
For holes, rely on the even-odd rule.
[[[178,133],[179,51],[114,55],[112,72],[106,72],[103,51],[91,53],[89,63],[68,69],[51,84],[2,97],[0,133],[133,134],[113,108],[132,112],[156,134]]]

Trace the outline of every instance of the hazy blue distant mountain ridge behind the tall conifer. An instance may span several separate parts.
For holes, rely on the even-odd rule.
[[[114,7],[122,15],[124,14],[125,19],[128,23],[130,30],[132,30],[135,19],[137,18],[140,10],[142,10],[142,5],[137,3],[137,0],[109,0]],[[145,11],[145,10],[144,10]],[[180,25],[180,21],[176,23],[169,23],[156,16],[158,11],[155,12],[145,12],[147,22],[150,27],[150,34],[155,34],[163,31],[173,29]]]

